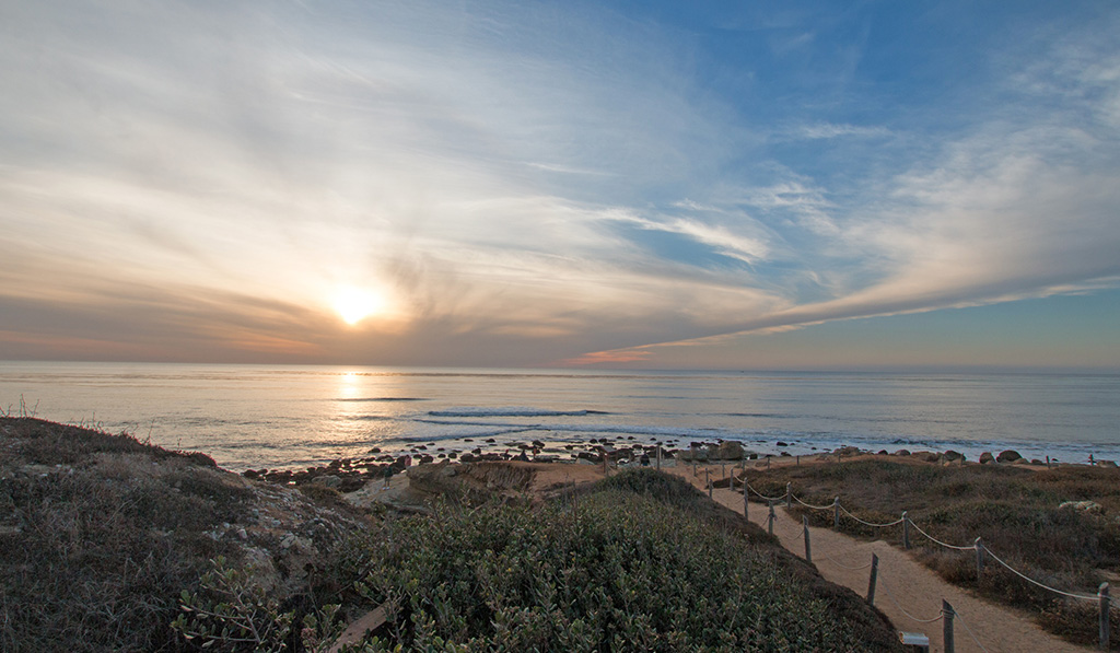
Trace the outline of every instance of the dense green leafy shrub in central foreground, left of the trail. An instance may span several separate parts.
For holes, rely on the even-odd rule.
[[[839,595],[812,591],[773,549],[673,505],[696,494],[678,479],[618,475],[578,503],[388,521],[366,541],[358,585],[390,610],[371,646],[896,649],[866,606],[838,609]]]

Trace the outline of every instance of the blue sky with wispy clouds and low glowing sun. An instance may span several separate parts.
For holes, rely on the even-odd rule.
[[[1117,34],[0,0],[0,360],[1120,371]]]

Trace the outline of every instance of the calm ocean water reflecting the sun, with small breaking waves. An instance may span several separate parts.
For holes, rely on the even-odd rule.
[[[1120,375],[437,370],[0,362],[0,409],[128,430],[223,467],[300,468],[377,447],[739,440],[1120,459]],[[493,439],[493,442],[485,440]],[[781,442],[781,445],[780,445]]]

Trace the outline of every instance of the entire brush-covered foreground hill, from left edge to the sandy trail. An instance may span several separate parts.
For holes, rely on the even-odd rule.
[[[3,418],[0,506],[3,651],[325,651],[374,608],[352,650],[898,650],[853,593],[648,469],[360,513],[319,485]]]

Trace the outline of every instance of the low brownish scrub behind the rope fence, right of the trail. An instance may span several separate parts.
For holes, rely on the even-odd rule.
[[[794,495],[815,505],[841,504],[860,519],[909,520],[934,538],[955,545],[983,545],[1026,576],[1070,593],[1095,595],[1100,582],[1120,569],[1120,470],[1063,466],[922,465],[909,460],[777,467],[750,472],[760,493]],[[1067,502],[1092,502],[1080,506]],[[796,506],[796,504],[795,504]],[[795,509],[821,526],[831,510]],[[872,529],[841,513],[841,530],[902,545],[902,526]],[[1096,606],[1066,599],[1021,580],[988,558],[977,576],[976,554],[940,547],[911,530],[915,554],[946,580],[1007,605],[1028,608],[1047,629],[1081,644],[1095,644]],[[1120,610],[1113,612],[1113,623]],[[1116,631],[1116,628],[1113,628]],[[1114,637],[1113,647],[1120,646]]]

